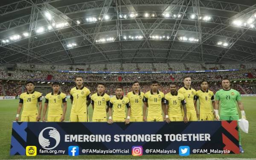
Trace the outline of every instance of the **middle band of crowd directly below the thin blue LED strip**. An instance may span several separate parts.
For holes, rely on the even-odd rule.
[[[248,76],[250,74],[250,77]],[[70,81],[72,82],[75,76],[84,77],[84,81],[182,81],[184,76],[191,76],[193,81],[201,81],[203,79],[210,81],[219,81],[223,78],[232,80],[238,79],[253,79],[256,78],[255,70],[244,71],[228,71],[228,72],[207,72],[207,73],[154,73],[154,74],[89,74],[89,73],[61,73],[56,71],[35,71],[35,70],[15,70],[11,76],[6,75],[6,71],[0,71],[2,79],[17,79],[17,80],[36,80],[36,81]]]

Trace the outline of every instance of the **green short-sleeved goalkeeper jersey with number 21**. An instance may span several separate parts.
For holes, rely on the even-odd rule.
[[[237,116],[237,101],[241,101],[241,95],[237,90],[218,90],[215,94],[215,100],[220,101],[221,115]]]

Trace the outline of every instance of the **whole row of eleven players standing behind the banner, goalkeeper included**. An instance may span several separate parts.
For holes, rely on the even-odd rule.
[[[184,77],[184,86],[177,90],[175,83],[170,84],[170,92],[164,95],[159,91],[157,81],[151,82],[151,90],[146,93],[140,92],[140,84],[135,81],[132,85],[133,91],[123,96],[122,87],[116,87],[116,95],[111,97],[105,93],[105,84],[97,85],[97,93],[90,94],[90,90],[83,86],[83,78],[75,78],[76,87],[70,90],[72,103],[70,122],[89,122],[87,106],[92,105],[92,122],[174,122],[174,121],[198,121],[198,120],[238,120],[239,114],[237,104],[241,111],[241,118],[246,119],[241,95],[237,90],[230,88],[230,80],[221,81],[222,89],[215,93],[208,90],[208,82],[201,81],[201,90],[191,88],[191,78]],[[41,119],[42,96],[34,91],[34,83],[26,82],[27,92],[20,95],[17,108],[16,121],[19,120],[20,111],[23,107],[21,122],[36,122]],[[52,83],[52,93],[45,96],[43,109],[43,121],[62,122],[67,111],[67,98],[60,92],[60,84]],[[197,107],[199,100],[199,107]],[[39,109],[37,108],[39,104]],[[63,105],[63,108],[62,108]],[[142,107],[143,106],[143,107]],[[220,114],[218,113],[220,108]],[[127,108],[127,109],[126,109]],[[214,112],[212,111],[214,108]],[[126,113],[127,110],[127,113]],[[107,118],[107,113],[109,117]],[[239,130],[239,149],[241,147],[241,136]]]

